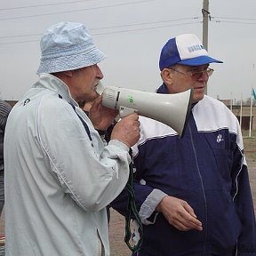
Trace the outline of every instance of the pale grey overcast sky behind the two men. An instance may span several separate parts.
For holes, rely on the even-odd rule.
[[[19,100],[37,80],[40,39],[60,21],[83,22],[108,57],[105,86],[155,92],[164,44],[180,34],[203,40],[203,0],[12,0],[0,6],[0,99]],[[243,100],[256,88],[255,0],[209,0],[207,94]],[[255,64],[255,65],[254,65]],[[255,66],[255,67],[254,67]]]

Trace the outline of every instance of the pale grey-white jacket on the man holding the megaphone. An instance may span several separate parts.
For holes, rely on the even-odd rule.
[[[109,255],[105,207],[128,180],[129,148],[104,146],[68,86],[47,74],[14,106],[5,132],[6,256]]]

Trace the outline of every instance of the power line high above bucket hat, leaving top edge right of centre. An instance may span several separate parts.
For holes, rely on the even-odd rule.
[[[111,7],[116,7],[116,6],[124,6],[124,5],[129,5],[129,4],[141,4],[141,3],[146,3],[146,2],[152,2],[156,0],[142,0],[142,1],[133,1],[129,3],[122,3],[122,4],[110,4],[110,5],[103,5],[103,6],[98,6],[98,7],[91,7],[91,8],[82,8],[79,10],[71,10],[71,11],[63,11],[63,12],[47,12],[47,13],[42,13],[42,14],[33,14],[33,15],[26,15],[26,16],[16,16],[12,18],[2,18],[0,20],[19,20],[19,19],[26,19],[26,18],[35,18],[35,17],[40,17],[40,16],[49,16],[53,14],[61,14],[61,13],[70,13],[70,12],[82,12],[82,11],[89,11],[89,10],[96,10],[96,9],[104,9],[104,8],[111,8]]]

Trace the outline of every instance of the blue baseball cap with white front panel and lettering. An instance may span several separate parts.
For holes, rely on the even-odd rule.
[[[160,54],[159,68],[171,67],[175,64],[186,66],[200,66],[210,63],[223,63],[221,60],[213,59],[205,50],[204,45],[193,34],[183,34],[171,38]]]

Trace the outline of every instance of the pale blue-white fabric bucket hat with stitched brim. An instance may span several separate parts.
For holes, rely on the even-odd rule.
[[[55,73],[89,67],[106,58],[92,42],[82,23],[60,22],[42,36],[41,60],[36,74]]]

